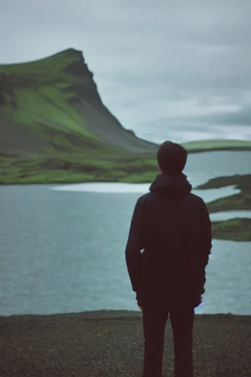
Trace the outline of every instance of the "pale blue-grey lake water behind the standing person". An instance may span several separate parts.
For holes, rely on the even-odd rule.
[[[196,187],[250,174],[249,161],[251,152],[190,155],[184,172]],[[125,247],[134,205],[150,184],[1,186],[0,315],[138,310]],[[193,192],[207,202],[239,191]],[[251,211],[211,219],[240,215]],[[213,240],[206,277],[197,314],[251,314],[250,242]]]

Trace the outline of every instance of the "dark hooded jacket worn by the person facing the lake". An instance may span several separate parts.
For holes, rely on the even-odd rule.
[[[205,292],[211,221],[203,199],[191,190],[185,174],[159,174],[137,200],[126,265],[140,302],[186,306]]]

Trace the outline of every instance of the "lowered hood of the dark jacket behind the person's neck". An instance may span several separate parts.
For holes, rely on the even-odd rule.
[[[192,191],[192,185],[190,185],[184,173],[176,176],[159,174],[149,189],[165,196],[180,198]]]

